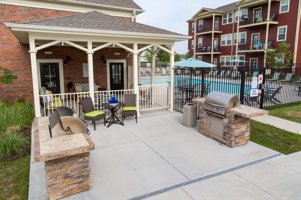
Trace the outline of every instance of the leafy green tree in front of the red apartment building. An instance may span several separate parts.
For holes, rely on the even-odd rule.
[[[279,48],[276,48],[274,51],[265,50],[265,59],[267,63],[276,63],[277,58],[283,58],[286,63],[290,63],[294,59],[294,52],[288,50],[290,48],[290,44],[286,42],[281,42],[278,44]]]

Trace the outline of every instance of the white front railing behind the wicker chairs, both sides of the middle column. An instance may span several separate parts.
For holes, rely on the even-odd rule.
[[[95,110],[104,111],[106,117],[109,117],[110,111],[104,110],[101,106],[101,103],[108,103],[111,97],[116,97],[119,101],[123,102],[123,94],[133,94],[133,89],[127,90],[113,90],[113,91],[95,91],[94,92],[94,104]],[[42,98],[42,115],[52,114],[56,107],[66,106],[73,109],[79,116],[82,117],[82,109],[79,100],[83,98],[90,97],[89,92],[79,92],[79,93],[64,93],[64,94],[48,94],[48,95],[39,95]],[[93,98],[92,98],[93,101]],[[39,108],[36,108],[39,109]],[[42,113],[44,112],[44,113]],[[120,116],[122,109],[117,111],[117,116]]]

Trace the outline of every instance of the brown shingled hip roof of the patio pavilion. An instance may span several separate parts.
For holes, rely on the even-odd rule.
[[[119,17],[100,13],[98,11],[65,15],[54,18],[37,19],[32,21],[19,22],[17,24],[185,36],[183,34],[167,31],[161,28],[156,28],[153,26],[141,24],[138,22],[132,22],[126,19],[121,19]]]

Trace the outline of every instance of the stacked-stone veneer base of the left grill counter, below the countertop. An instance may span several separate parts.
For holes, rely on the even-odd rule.
[[[60,199],[91,189],[90,152],[45,161],[49,198]]]

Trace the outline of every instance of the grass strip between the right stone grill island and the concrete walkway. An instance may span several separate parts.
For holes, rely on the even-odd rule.
[[[250,141],[281,152],[301,151],[301,135],[251,120]]]

